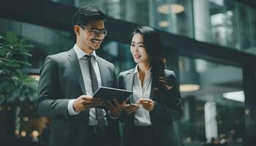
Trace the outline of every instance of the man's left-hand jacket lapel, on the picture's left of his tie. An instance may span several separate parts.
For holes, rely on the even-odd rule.
[[[74,49],[69,50],[68,59],[69,59],[69,63],[72,66],[72,69],[75,72],[75,76],[77,77],[80,88],[83,91],[83,94],[86,95],[86,88],[85,88],[85,85],[84,85],[84,82],[83,82],[83,75],[82,75],[80,65],[79,65],[79,62],[78,62],[78,56],[76,55]]]

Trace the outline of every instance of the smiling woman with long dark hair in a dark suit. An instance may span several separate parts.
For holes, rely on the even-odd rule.
[[[119,88],[133,91],[120,117],[122,145],[176,146],[173,121],[183,109],[175,74],[165,69],[159,34],[148,26],[136,28],[130,51],[137,65],[118,77]]]

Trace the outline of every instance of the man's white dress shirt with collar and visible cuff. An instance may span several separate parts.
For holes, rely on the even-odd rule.
[[[80,69],[83,75],[83,82],[86,88],[86,95],[88,96],[93,96],[94,92],[92,91],[92,86],[91,86],[91,77],[90,77],[90,72],[89,72],[89,65],[88,65],[88,60],[85,57],[85,55],[89,55],[86,52],[84,52],[82,49],[80,49],[77,45],[74,46],[74,50],[75,53],[78,55],[78,61],[79,61],[79,65],[80,65]],[[102,85],[102,80],[100,77],[100,72],[99,72],[99,65],[97,63],[97,55],[94,52],[91,53],[91,55],[93,55],[93,57],[91,58],[91,64],[94,68],[94,72],[97,76],[97,80],[98,80],[98,86],[100,87]],[[75,101],[75,99],[70,99],[69,100],[69,104],[68,104],[68,112],[69,115],[78,115],[79,112],[75,112],[75,110],[73,109],[73,102]],[[106,115],[105,110],[103,110],[104,115]],[[97,118],[96,118],[96,112],[95,112],[95,108],[90,108],[90,112],[89,112],[89,126],[95,126],[98,124]],[[106,118],[105,121],[107,122]],[[107,123],[106,123],[107,124]]]

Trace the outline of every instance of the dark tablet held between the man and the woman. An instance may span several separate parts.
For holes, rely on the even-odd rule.
[[[94,97],[101,98],[102,101],[113,101],[116,99],[119,103],[125,101],[132,94],[132,91],[121,90],[118,88],[100,87],[95,91]]]

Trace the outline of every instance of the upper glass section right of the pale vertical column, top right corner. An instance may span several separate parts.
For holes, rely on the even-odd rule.
[[[256,53],[255,9],[231,0],[211,1],[209,7],[211,42]]]

